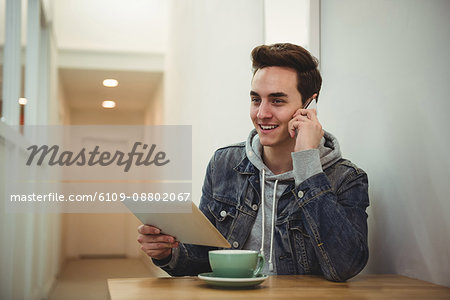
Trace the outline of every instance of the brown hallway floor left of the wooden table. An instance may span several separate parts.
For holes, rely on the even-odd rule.
[[[164,276],[140,259],[77,259],[67,261],[49,300],[108,299],[108,278]]]

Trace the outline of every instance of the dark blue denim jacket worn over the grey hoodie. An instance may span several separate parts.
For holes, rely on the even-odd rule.
[[[259,170],[244,143],[217,150],[209,162],[200,210],[234,249],[242,249],[261,202]],[[295,202],[296,205],[288,205]],[[368,260],[366,173],[340,158],[298,186],[294,181],[279,199],[274,231],[277,274],[323,275],[345,281]],[[208,251],[180,244],[168,261],[153,260],[173,276],[211,272]]]

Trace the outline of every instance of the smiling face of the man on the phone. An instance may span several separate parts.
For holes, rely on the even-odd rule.
[[[265,67],[256,71],[250,91],[250,117],[264,147],[290,149],[295,145],[288,123],[302,107],[297,89],[297,73],[285,67]]]

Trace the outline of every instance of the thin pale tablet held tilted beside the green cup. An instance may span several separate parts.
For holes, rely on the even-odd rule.
[[[192,203],[192,202],[191,202]],[[133,210],[130,209],[133,212]],[[137,213],[133,214],[146,225],[152,225],[161,233],[176,238],[180,243],[230,248],[223,235],[192,203],[192,211],[177,213]]]

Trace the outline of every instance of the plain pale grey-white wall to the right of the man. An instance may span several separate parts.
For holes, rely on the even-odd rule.
[[[319,117],[369,175],[367,271],[450,285],[450,1],[321,7]]]

